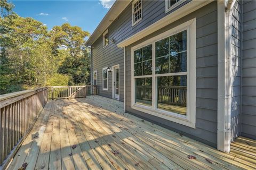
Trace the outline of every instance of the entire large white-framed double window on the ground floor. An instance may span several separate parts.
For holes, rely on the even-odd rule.
[[[132,48],[132,108],[194,128],[195,22]]]

